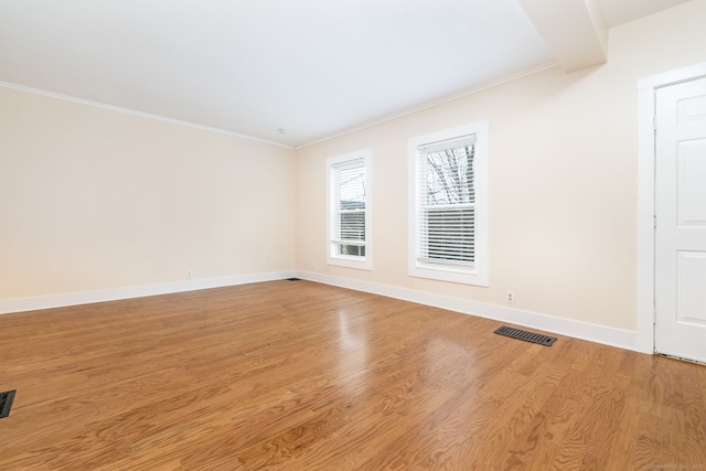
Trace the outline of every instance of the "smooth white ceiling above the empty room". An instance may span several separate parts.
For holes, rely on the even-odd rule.
[[[300,147],[560,64],[532,4],[591,1],[0,0],[0,82]]]

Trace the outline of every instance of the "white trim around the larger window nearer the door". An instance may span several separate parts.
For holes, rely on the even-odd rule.
[[[488,120],[477,121],[451,129],[417,136],[408,140],[408,275],[466,285],[489,286],[488,275]],[[475,136],[473,158],[475,214],[474,214],[474,266],[460,267],[451,264],[422,264],[417,259],[419,247],[418,228],[418,149],[445,140],[457,140],[463,136]],[[450,142],[451,143],[451,142]]]

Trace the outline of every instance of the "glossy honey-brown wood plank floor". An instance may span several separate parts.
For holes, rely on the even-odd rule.
[[[706,470],[705,366],[500,325],[286,280],[1,315],[0,469]]]

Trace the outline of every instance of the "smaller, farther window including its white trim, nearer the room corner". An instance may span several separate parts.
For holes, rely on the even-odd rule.
[[[366,149],[327,161],[330,265],[372,269],[370,156]]]

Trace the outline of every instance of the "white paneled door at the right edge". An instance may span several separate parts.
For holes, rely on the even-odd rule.
[[[706,78],[656,90],[655,351],[706,362]]]

